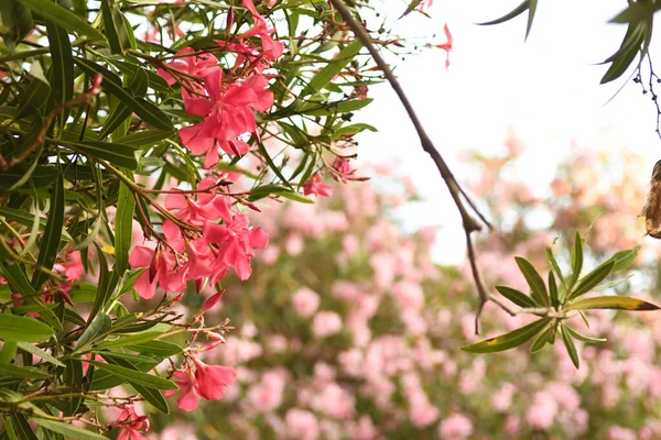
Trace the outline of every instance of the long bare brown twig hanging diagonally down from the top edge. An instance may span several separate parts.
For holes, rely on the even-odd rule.
[[[438,169],[441,177],[443,178],[443,180],[445,182],[445,185],[447,186],[447,189],[449,190],[449,195],[452,196],[452,199],[454,200],[457,209],[459,210],[459,215],[462,216],[462,223],[464,227],[464,231],[466,232],[466,246],[468,250],[468,261],[470,263],[473,278],[475,280],[475,285],[477,287],[477,293],[479,295],[479,305],[477,307],[477,314],[475,316],[475,332],[478,333],[479,332],[479,326],[478,326],[479,317],[480,317],[481,310],[484,309],[485,304],[490,299],[490,296],[487,293],[487,289],[485,288],[485,286],[481,282],[481,277],[479,275],[479,268],[477,266],[477,256],[475,253],[475,248],[473,245],[473,239],[470,237],[470,234],[473,232],[481,230],[481,224],[468,212],[468,210],[466,209],[466,206],[464,205],[464,200],[466,200],[466,202],[468,204],[468,206],[470,207],[473,212],[489,229],[491,229],[491,226],[485,219],[485,217],[478,211],[477,207],[470,200],[470,198],[466,195],[466,193],[462,189],[462,187],[457,183],[456,178],[452,174],[452,170],[445,163],[445,160],[443,158],[443,156],[441,155],[438,150],[436,150],[432,140],[427,136],[426,132],[424,131],[424,128],[422,127],[422,123],[420,122],[420,119],[418,118],[418,114],[413,110],[413,106],[409,101],[409,98],[404,94],[401,85],[399,84],[395,76],[392,74],[392,70],[390,69],[388,64],[383,61],[383,58],[381,57],[381,55],[375,47],[375,45],[372,43],[372,38],[369,36],[369,34],[367,33],[365,28],[356,21],[356,19],[351,14],[351,12],[344,4],[343,0],[328,0],[328,1],[330,2],[330,4],[333,4],[333,7],[335,9],[337,9],[337,12],[339,12],[339,14],[342,15],[345,23],[351,29],[351,31],[354,31],[354,34],[356,34],[356,37],[358,37],[358,40],[360,40],[362,45],[365,47],[367,47],[371,57],[377,63],[377,66],[379,66],[381,72],[383,72],[386,79],[388,79],[388,82],[390,82],[390,86],[395,91],[400,101],[407,109],[409,119],[411,120],[411,122],[413,122],[413,125],[415,127],[415,131],[418,132],[418,135],[420,136],[420,142],[422,143],[422,148],[432,157],[432,161],[434,161],[434,164],[436,165],[436,168]]]

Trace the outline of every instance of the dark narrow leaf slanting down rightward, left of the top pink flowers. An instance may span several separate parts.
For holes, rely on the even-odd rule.
[[[161,109],[147,99],[137,98],[131,92],[127,91],[127,89],[121,86],[121,81],[117,79],[117,75],[88,59],[75,57],[74,61],[78,67],[80,67],[80,69],[90,77],[94,77],[97,74],[104,75],[101,88],[122,101],[132,111],[134,111],[136,114],[142,118],[144,122],[160,130],[174,130],[172,120],[165,113],[163,113]]]

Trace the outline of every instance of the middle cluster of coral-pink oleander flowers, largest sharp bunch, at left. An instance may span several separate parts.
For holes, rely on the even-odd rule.
[[[133,268],[148,267],[134,285],[141,297],[152,298],[156,284],[166,293],[183,292],[187,280],[199,292],[206,280],[218,283],[229,267],[248,279],[254,249],[264,249],[269,238],[261,228],[250,227],[246,215],[232,212],[230,196],[219,190],[224,182],[207,177],[194,193],[170,191],[165,208],[172,213],[163,223],[164,240],[155,249],[136,246],[129,258]]]

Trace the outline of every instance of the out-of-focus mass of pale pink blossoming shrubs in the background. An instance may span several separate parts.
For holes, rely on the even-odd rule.
[[[507,161],[500,164],[494,169]],[[587,173],[585,166],[594,163],[567,161],[559,174]],[[624,167],[630,172],[622,182],[631,182],[636,167]],[[480,262],[489,283],[517,286],[520,275],[502,255],[543,262],[555,233],[566,232],[540,232],[521,220],[530,213],[529,196],[537,194],[525,183],[492,188],[507,196],[506,205],[489,199],[501,239],[477,243]],[[630,193],[618,183],[599,191],[615,198],[598,205],[605,216],[608,207],[631,206],[633,211]],[[534,197],[534,206],[546,207],[551,218],[565,211],[562,204],[540,199]],[[225,286],[224,305],[224,314],[245,319],[235,322],[237,328],[250,331],[229,336],[221,352],[204,354],[237,370],[226,388],[228,405],[219,408],[219,419],[229,420],[221,425],[228,436],[661,438],[657,316],[596,311],[588,314],[590,328],[572,319],[582,333],[608,339],[577,343],[579,370],[561,342],[535,355],[527,348],[497,355],[463,353],[459,348],[475,338],[474,286],[462,266],[433,264],[430,229],[408,235],[389,220],[383,212],[399,204],[398,195],[362,185],[343,187],[327,202],[272,204],[267,216],[256,216],[271,235],[270,251],[258,256],[258,276]],[[576,218],[585,219],[578,224],[589,220],[588,209],[578,208]],[[499,221],[501,215],[507,222]],[[595,233],[588,237],[590,245],[599,241]],[[615,243],[602,249],[621,250]],[[637,264],[640,273],[658,273],[652,260]],[[529,319],[487,306],[483,338]]]

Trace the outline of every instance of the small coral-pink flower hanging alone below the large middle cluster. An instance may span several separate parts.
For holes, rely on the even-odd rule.
[[[225,396],[225,387],[237,377],[237,371],[231,366],[207,365],[197,359],[193,359],[193,370],[186,364],[183,371],[174,372],[180,389],[164,393],[165,397],[170,397],[181,392],[176,405],[186,411],[197,408],[199,397],[220,400]]]

